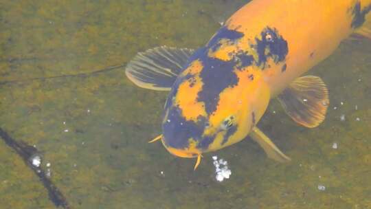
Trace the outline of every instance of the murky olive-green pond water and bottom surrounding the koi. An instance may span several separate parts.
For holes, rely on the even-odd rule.
[[[90,74],[158,45],[203,45],[230,3],[1,1],[1,128],[43,152],[71,208],[371,208],[371,41],[343,43],[310,72],[330,91],[321,126],[297,126],[272,102],[259,126],[289,164],[246,140],[206,154],[194,172],[194,160],[147,143],[161,131],[166,93],[135,87],[124,68]],[[80,76],[3,83],[71,74]],[[232,168],[221,184],[214,154]],[[0,166],[1,208],[54,208],[3,142]]]

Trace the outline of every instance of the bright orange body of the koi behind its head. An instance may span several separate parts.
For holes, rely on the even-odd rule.
[[[370,10],[370,0],[251,1],[235,13],[226,26],[243,33],[236,47],[247,49],[247,52],[251,51],[249,43],[256,45],[255,40],[263,39],[260,34],[267,28],[286,41],[287,54],[285,51],[276,53],[284,60],[272,63],[268,58],[264,66],[268,69],[265,70],[265,80],[274,97],[293,79],[332,54],[341,41],[366,21],[366,17],[370,19]],[[263,60],[266,57],[262,53],[259,56]]]

